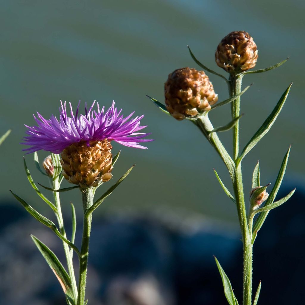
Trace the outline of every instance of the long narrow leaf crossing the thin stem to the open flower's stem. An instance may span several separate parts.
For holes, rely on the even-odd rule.
[[[13,196],[23,205],[23,207],[39,222],[47,226],[48,228],[51,228],[51,230],[66,244],[68,244],[74,251],[77,253],[78,256],[80,256],[80,252],[77,249],[77,247],[70,242],[68,239],[66,239],[57,229],[54,222],[50,221],[48,218],[42,216],[40,213],[38,213],[34,208],[32,208],[28,203],[26,203],[22,198],[14,194],[11,190],[10,192],[13,194]]]

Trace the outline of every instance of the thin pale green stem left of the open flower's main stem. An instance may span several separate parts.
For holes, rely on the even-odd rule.
[[[51,181],[52,188],[54,188],[56,190],[59,189],[59,176],[57,176],[54,179],[50,178],[50,181]],[[63,224],[63,214],[61,212],[59,192],[53,192],[53,196],[54,196],[55,205],[57,207],[56,218],[57,218],[58,225],[59,225],[59,231],[66,238],[67,236],[66,236],[65,227]],[[64,248],[65,255],[66,255],[67,266],[68,266],[68,271],[69,271],[69,275],[70,275],[71,282],[72,282],[73,293],[74,293],[74,296],[76,299],[77,298],[77,285],[76,285],[76,279],[75,279],[75,274],[74,274],[72,255],[71,255],[69,246],[65,242],[63,242],[63,248]]]

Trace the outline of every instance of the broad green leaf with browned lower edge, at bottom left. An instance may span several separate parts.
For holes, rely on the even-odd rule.
[[[69,274],[66,272],[63,265],[60,263],[59,259],[56,257],[53,251],[51,251],[43,242],[41,242],[37,237],[31,235],[35,245],[37,246],[38,250],[45,258],[46,262],[56,275],[63,292],[73,297],[73,290],[72,290],[72,283]]]

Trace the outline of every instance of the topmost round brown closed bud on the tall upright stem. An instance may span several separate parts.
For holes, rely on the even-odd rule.
[[[234,31],[221,40],[215,52],[215,61],[228,73],[240,73],[255,66],[257,52],[257,46],[247,32]]]

